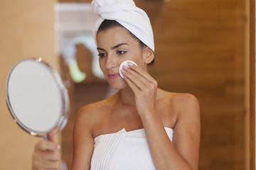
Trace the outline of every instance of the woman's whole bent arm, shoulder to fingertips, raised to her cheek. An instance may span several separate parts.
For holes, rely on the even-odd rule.
[[[124,70],[124,79],[134,91],[137,111],[142,118],[156,169],[198,169],[200,109],[196,98],[182,94],[182,97],[174,100],[178,118],[174,127],[173,144],[156,111],[156,81],[134,65]]]

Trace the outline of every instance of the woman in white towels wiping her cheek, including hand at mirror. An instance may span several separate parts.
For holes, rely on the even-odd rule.
[[[132,0],[95,0],[99,62],[116,94],[78,111],[72,169],[198,169],[200,111],[191,94],[163,91],[147,72],[154,62],[149,18]],[[119,65],[132,60],[122,68]],[[33,169],[58,169],[59,145],[41,141]]]

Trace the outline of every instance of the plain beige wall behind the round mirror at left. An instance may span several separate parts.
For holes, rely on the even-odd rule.
[[[54,4],[55,0],[0,1],[0,169],[31,169],[33,145],[41,140],[12,120],[5,103],[5,81],[11,66],[23,58],[42,57],[58,67]]]

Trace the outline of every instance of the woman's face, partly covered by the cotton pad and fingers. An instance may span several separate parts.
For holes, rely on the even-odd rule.
[[[102,30],[97,33],[96,40],[100,69],[113,89],[127,87],[118,71],[119,65],[125,60],[132,60],[138,64],[138,67],[146,70],[145,52],[125,28]]]

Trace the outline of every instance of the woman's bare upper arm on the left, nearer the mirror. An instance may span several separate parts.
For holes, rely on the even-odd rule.
[[[72,170],[90,170],[90,162],[94,148],[92,136],[92,118],[89,106],[78,111],[73,130],[73,163]]]

